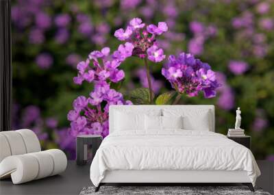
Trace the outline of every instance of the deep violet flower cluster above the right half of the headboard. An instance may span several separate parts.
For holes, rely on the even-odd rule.
[[[169,62],[162,68],[162,75],[177,92],[188,96],[197,96],[203,91],[206,98],[212,98],[220,86],[210,65],[195,59],[190,53],[180,53],[177,58],[170,55]]]

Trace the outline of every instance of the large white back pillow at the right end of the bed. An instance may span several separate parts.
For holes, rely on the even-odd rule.
[[[208,109],[163,109],[164,116],[183,116],[183,129],[210,131],[210,112]]]

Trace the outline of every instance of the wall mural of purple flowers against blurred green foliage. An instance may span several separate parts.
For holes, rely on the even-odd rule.
[[[240,106],[254,155],[273,160],[273,9],[269,0],[13,0],[13,129],[73,159],[75,135],[108,135],[112,104],[214,104],[218,133]]]

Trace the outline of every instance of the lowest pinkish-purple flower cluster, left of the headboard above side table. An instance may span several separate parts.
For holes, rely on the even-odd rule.
[[[103,106],[104,105],[104,106]],[[110,89],[105,81],[96,81],[90,96],[78,96],[73,101],[73,110],[68,114],[71,121],[71,135],[97,134],[108,135],[108,109],[110,105],[132,105],[124,101],[123,95]]]

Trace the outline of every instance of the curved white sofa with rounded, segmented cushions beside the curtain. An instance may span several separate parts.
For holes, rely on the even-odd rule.
[[[0,179],[12,178],[14,184],[41,179],[66,170],[63,151],[41,151],[40,142],[29,129],[0,132]]]

